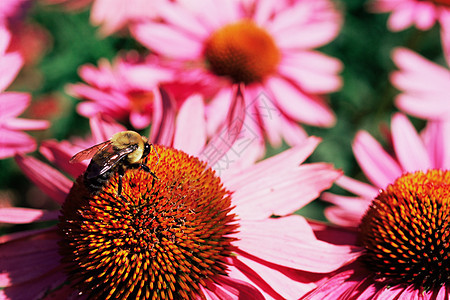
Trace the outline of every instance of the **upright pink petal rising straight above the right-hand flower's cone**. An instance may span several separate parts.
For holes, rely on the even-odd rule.
[[[395,114],[391,128],[395,153],[404,171],[426,171],[433,167],[419,134],[406,116]]]

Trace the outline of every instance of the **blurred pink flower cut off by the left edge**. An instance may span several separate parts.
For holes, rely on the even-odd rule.
[[[36,142],[22,130],[46,129],[47,121],[17,118],[30,104],[26,93],[5,92],[23,64],[17,52],[7,52],[11,35],[0,26],[0,159],[14,156],[18,152],[31,152]]]

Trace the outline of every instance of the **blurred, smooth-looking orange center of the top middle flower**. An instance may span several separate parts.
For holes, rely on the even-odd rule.
[[[206,42],[210,70],[233,82],[261,82],[276,71],[280,51],[263,28],[249,20],[226,25]]]

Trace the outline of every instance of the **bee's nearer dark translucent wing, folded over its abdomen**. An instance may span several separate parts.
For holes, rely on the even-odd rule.
[[[87,170],[87,178],[94,178],[102,175],[112,167],[114,167],[118,162],[120,162],[125,156],[130,154],[136,149],[136,145],[130,147],[115,150],[112,144],[106,145],[93,159],[90,168]]]

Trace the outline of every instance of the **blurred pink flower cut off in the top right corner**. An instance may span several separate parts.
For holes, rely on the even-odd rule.
[[[391,12],[388,28],[392,31],[413,25],[420,30],[429,30],[436,22],[450,19],[447,0],[375,0],[370,8],[376,12]]]

